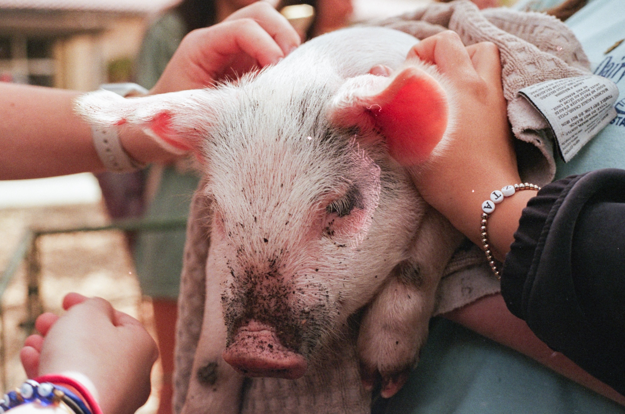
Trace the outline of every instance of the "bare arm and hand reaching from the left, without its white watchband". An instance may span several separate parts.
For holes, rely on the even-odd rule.
[[[197,89],[222,76],[277,62],[299,36],[266,2],[226,21],[189,33],[151,94]],[[91,127],[73,112],[80,92],[0,83],[0,180],[38,178],[104,169]],[[124,149],[138,161],[167,162],[173,155],[141,132],[119,128]]]

